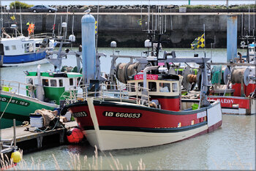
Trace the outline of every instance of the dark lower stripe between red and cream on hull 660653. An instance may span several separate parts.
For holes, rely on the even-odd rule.
[[[112,131],[125,131],[125,132],[157,132],[157,133],[170,133],[170,132],[185,132],[190,129],[196,129],[200,126],[205,126],[206,121],[197,123],[191,126],[182,126],[179,128],[139,128],[131,126],[99,126],[99,130],[112,130]],[[83,130],[94,129],[94,126],[83,126]]]

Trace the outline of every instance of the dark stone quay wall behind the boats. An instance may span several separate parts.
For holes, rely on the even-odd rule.
[[[91,12],[97,20],[97,12]],[[13,21],[10,17],[14,13],[5,13],[3,15],[4,28],[8,34],[13,33],[10,25],[14,22],[18,23],[20,30],[20,15],[15,15]],[[85,15],[83,12],[68,13],[67,20],[67,37],[72,31],[72,18],[74,16],[74,34],[76,37],[76,45],[81,43],[81,18]],[[226,47],[227,44],[227,15],[238,16],[238,37],[241,32],[244,35],[248,33],[250,26],[250,35],[253,34],[255,28],[255,12],[165,12],[162,13],[162,23],[166,25],[166,33],[170,36],[166,37],[170,40],[165,47],[190,47],[190,43],[203,34],[203,24],[206,31],[206,47],[210,47],[215,42],[215,47]],[[54,24],[54,14],[50,13],[31,13],[23,12],[21,15],[23,34],[28,34],[26,23],[35,24],[35,34],[52,32]],[[55,33],[58,34],[62,22],[66,21],[67,13],[56,13]],[[159,18],[159,16],[157,16]],[[165,20],[166,18],[166,20]],[[249,20],[250,18],[250,20]],[[141,19],[141,25],[140,25]],[[158,19],[159,20],[159,19]],[[98,46],[110,47],[111,41],[116,41],[118,47],[143,47],[144,41],[147,39],[146,29],[148,21],[147,12],[99,12],[98,15]],[[154,15],[153,26],[155,28],[156,16]],[[165,24],[166,23],[166,24]],[[244,29],[242,29],[242,23]],[[159,23],[157,23],[158,25]],[[150,28],[152,22],[150,23]],[[165,29],[164,29],[165,30]],[[255,32],[255,30],[254,30]],[[62,30],[63,34],[64,31]],[[240,44],[240,41],[238,41]]]

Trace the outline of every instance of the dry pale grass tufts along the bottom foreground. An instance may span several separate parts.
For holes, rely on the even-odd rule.
[[[22,154],[22,151],[20,151],[20,153]],[[146,170],[146,165],[143,163],[142,159],[138,161],[138,166],[132,167],[131,162],[129,162],[129,164],[126,164],[124,166],[123,164],[121,164],[121,162],[117,158],[112,156],[111,153],[109,153],[109,155],[110,155],[110,159],[105,159],[105,161],[108,161],[108,166],[110,167],[110,170]],[[68,167],[65,167],[65,168],[63,168],[63,166],[60,166],[59,162],[56,159],[56,156],[52,154],[52,157],[53,157],[53,163],[51,165],[54,165],[56,170],[106,170],[106,168],[103,168],[103,159],[102,159],[102,156],[98,156],[98,151],[96,146],[95,146],[94,156],[92,157],[92,161],[89,161],[87,156],[80,157],[78,153],[69,152],[69,159],[67,159]],[[218,161],[215,161],[211,157],[210,159],[215,166],[215,170],[254,170],[252,163],[242,161],[238,153],[236,153],[236,159],[233,161],[223,160],[221,161],[222,163],[219,163]],[[6,164],[12,164],[12,161],[7,161]],[[11,170],[46,170],[46,169],[45,169],[45,165],[42,164],[40,160],[34,161],[33,157],[31,157],[31,164],[29,165],[26,164],[26,161],[22,159],[17,164],[17,166],[12,167]],[[208,168],[206,168],[206,170],[208,170]]]

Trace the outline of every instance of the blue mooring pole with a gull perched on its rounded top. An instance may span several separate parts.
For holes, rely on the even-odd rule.
[[[89,84],[91,79],[96,78],[95,18],[90,14],[83,15],[81,23],[83,80]]]

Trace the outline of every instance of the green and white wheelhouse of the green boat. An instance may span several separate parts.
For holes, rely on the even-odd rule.
[[[59,104],[60,99],[69,96],[81,84],[83,75],[76,72],[41,72],[41,83],[45,94],[45,102]],[[37,72],[26,72],[27,96],[35,96],[38,86]]]

